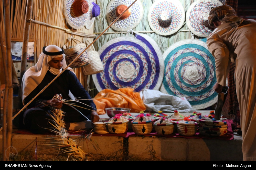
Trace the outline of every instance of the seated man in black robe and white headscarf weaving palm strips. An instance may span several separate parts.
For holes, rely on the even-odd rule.
[[[65,54],[61,48],[56,45],[44,47],[36,65],[29,68],[23,76],[23,104],[25,105],[33,99],[66,67]],[[63,99],[69,100],[72,96],[70,92],[79,100],[79,102],[71,101],[70,103],[80,107],[70,106],[58,99],[52,99],[56,94],[61,94]],[[23,115],[25,126],[33,133],[49,132],[51,109],[61,109],[65,112],[64,121],[68,130],[91,127],[91,122],[87,121],[88,119],[92,122],[99,121],[93,100],[70,67],[28,105],[28,110]]]

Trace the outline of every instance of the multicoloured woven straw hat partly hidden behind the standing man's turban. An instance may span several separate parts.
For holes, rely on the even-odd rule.
[[[186,14],[188,29],[200,37],[208,37],[213,29],[208,24],[211,7],[222,5],[218,0],[198,0],[192,3]]]

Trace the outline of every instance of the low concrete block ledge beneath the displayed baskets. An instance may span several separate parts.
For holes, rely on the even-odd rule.
[[[82,136],[70,136],[84,151],[104,156],[121,155],[128,151],[129,155],[141,158],[178,161],[242,161],[242,137],[234,136],[234,140],[219,139],[186,139],[133,136],[123,137],[92,136],[90,141]],[[46,135],[13,134],[12,146],[18,152],[35,151],[37,138],[37,153],[58,153],[59,147],[49,144],[55,140]],[[124,144],[128,140],[127,144]],[[128,147],[125,148],[125,147]],[[0,134],[0,152],[2,152],[2,134]],[[126,153],[128,154],[128,153]]]

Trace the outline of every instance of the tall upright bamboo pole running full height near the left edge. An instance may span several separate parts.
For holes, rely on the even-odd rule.
[[[4,1],[4,15],[5,15],[5,39],[6,39],[6,58],[7,58],[7,76],[8,81],[6,82],[5,89],[8,89],[8,105],[7,105],[7,156],[10,153],[12,130],[13,130],[13,89],[12,89],[12,57],[11,57],[11,30],[10,30],[10,1]],[[7,160],[9,158],[7,157]]]

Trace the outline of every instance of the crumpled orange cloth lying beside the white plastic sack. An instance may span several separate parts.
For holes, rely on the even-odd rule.
[[[101,90],[93,99],[98,114],[105,114],[105,108],[112,107],[129,108],[131,112],[136,113],[146,110],[140,93],[133,92],[133,90],[132,88]]]

